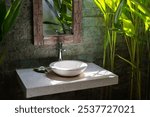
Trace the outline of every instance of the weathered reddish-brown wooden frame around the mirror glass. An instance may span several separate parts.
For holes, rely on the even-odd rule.
[[[73,34],[43,36],[42,0],[33,0],[34,45],[54,45],[57,39],[64,43],[81,42],[82,0],[73,0]]]

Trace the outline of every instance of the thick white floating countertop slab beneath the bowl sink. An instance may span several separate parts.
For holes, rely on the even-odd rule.
[[[16,70],[26,98],[118,84],[118,76],[94,63],[88,63],[84,73],[76,77],[60,77],[50,71],[37,73],[30,69]]]

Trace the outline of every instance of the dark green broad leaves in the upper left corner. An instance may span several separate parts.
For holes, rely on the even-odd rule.
[[[0,0],[0,42],[13,26],[19,13],[22,0]],[[4,58],[4,52],[0,52],[0,63]]]

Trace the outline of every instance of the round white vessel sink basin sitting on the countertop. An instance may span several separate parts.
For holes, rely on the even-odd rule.
[[[77,60],[62,60],[53,62],[49,66],[56,74],[71,77],[81,74],[88,65],[87,63]]]

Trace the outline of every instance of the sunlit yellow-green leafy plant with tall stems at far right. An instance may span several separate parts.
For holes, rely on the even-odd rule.
[[[149,33],[150,27],[150,10],[146,7],[146,4],[148,4],[146,0],[127,0],[122,8],[123,12],[118,15],[125,34],[130,60],[119,55],[118,57],[131,65],[131,99],[141,99],[142,97],[142,57],[146,49],[145,44],[149,43],[147,42],[149,39],[146,38],[146,35]]]

